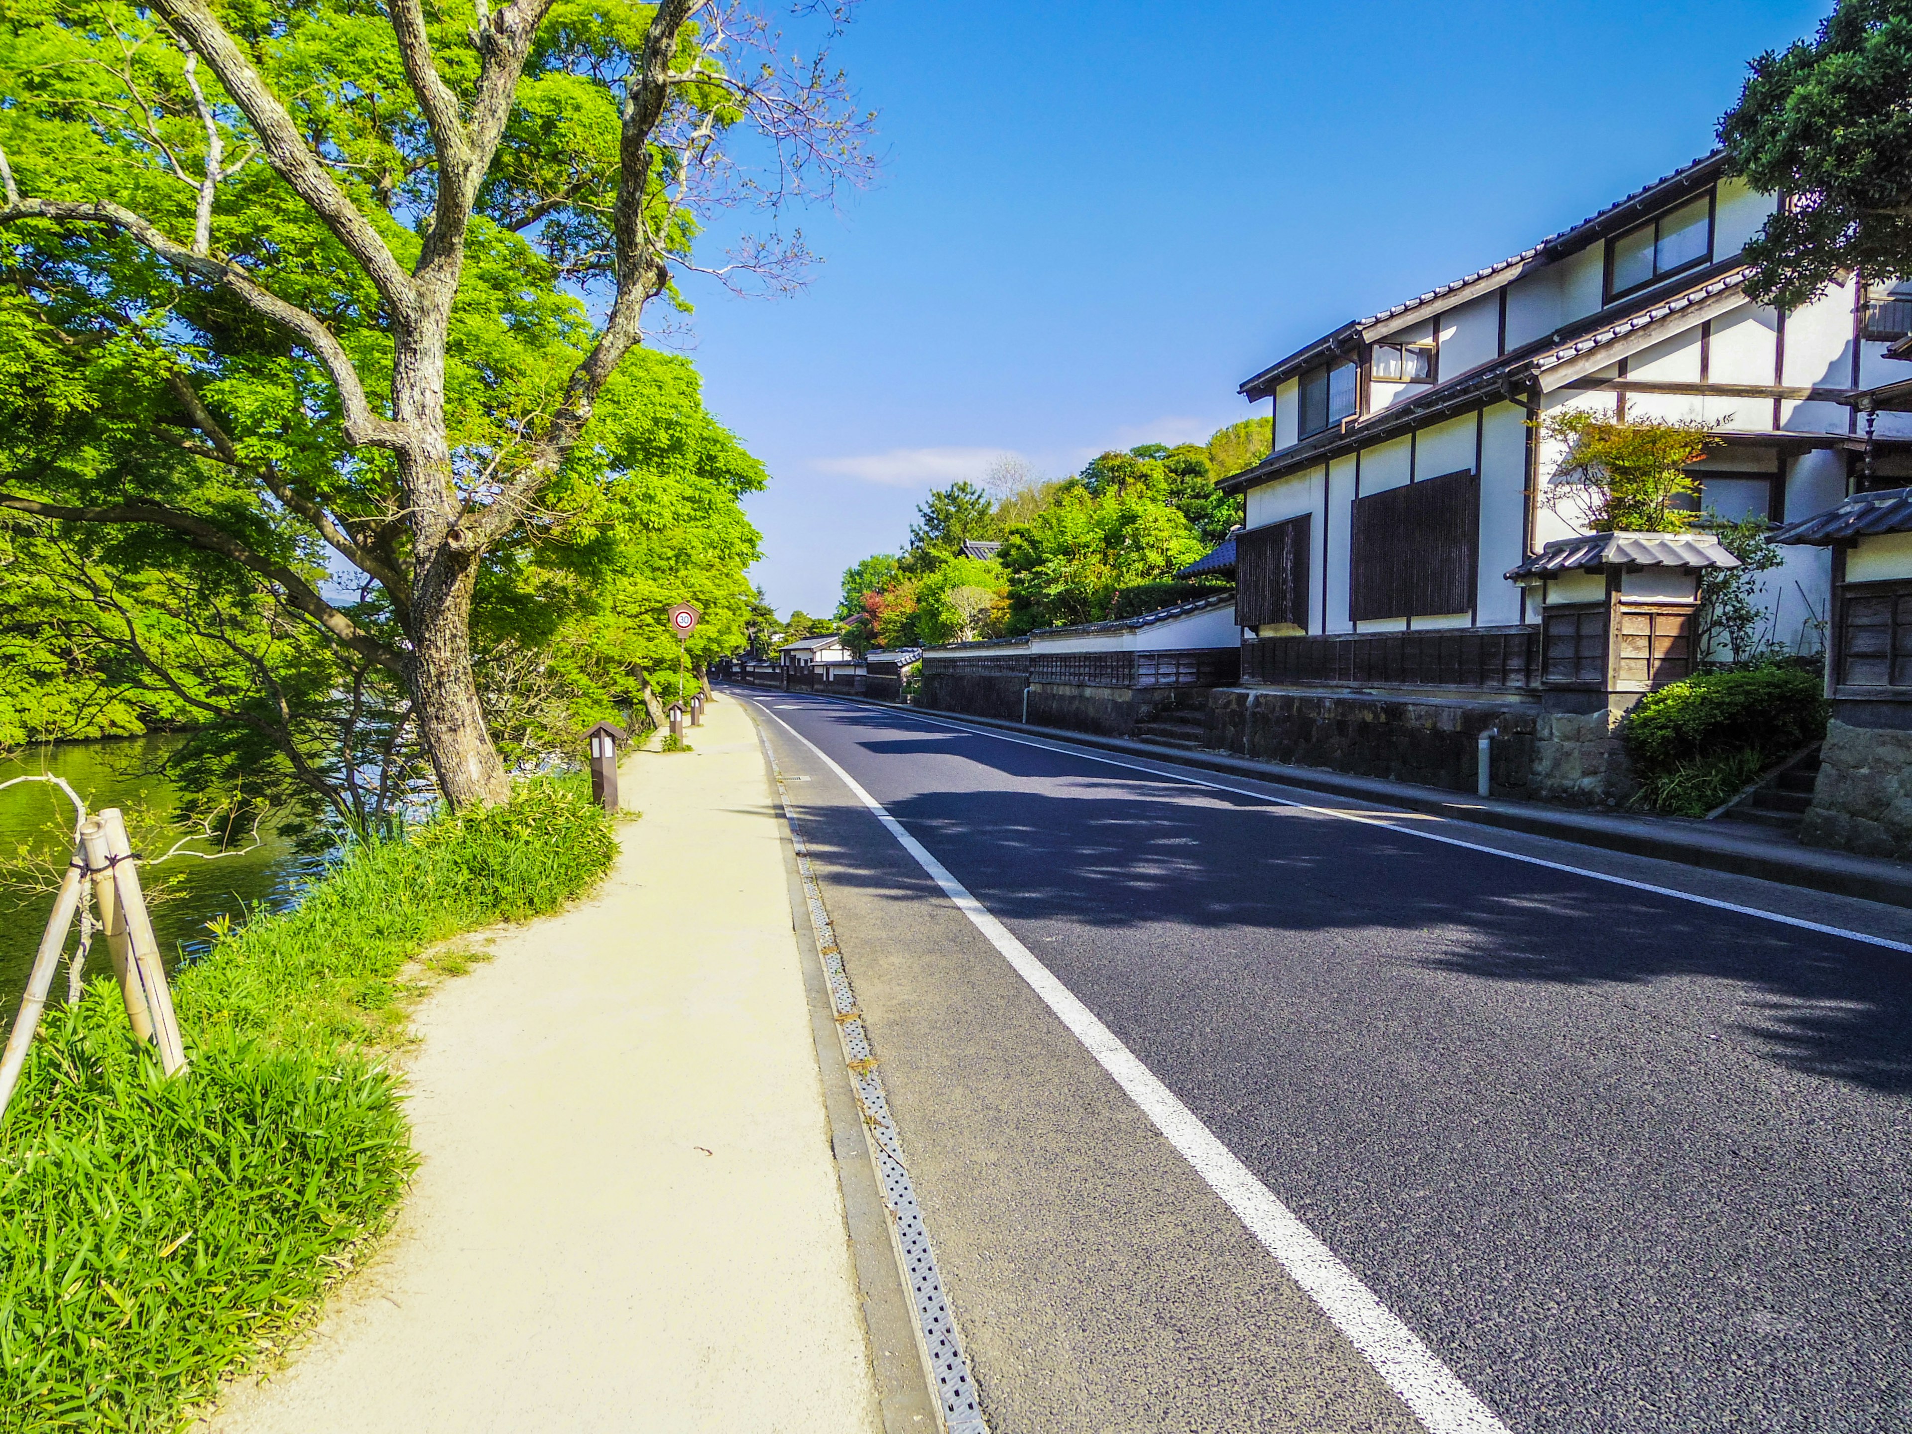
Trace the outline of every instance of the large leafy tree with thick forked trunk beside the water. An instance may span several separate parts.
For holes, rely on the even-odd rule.
[[[480,589],[619,470],[702,216],[862,174],[839,73],[694,0],[8,19],[0,507],[208,554],[403,690],[453,807],[503,799]],[[790,287],[774,233],[721,273]]]

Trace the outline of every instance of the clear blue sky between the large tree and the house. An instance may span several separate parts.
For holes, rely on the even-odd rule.
[[[1711,147],[1826,4],[864,0],[837,57],[874,187],[801,216],[795,298],[679,338],[771,468],[780,612],[1017,453],[1199,440],[1335,325],[1526,249]]]

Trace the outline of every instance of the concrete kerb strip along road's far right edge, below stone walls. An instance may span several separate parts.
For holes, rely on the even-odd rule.
[[[950,717],[975,727],[994,727],[1004,732],[1040,736],[1048,742],[1063,742],[1078,748],[1120,751],[1172,767],[1252,776],[1258,782],[1277,782],[1306,792],[1325,792],[1382,807],[1401,807],[1453,822],[1499,826],[1509,832],[1575,841],[1583,847],[1623,851],[1631,857],[1654,857],[1658,860],[1681,862],[1683,866],[1704,866],[1715,872],[1759,878],[1761,881],[1830,891],[1839,897],[1860,897],[1889,906],[1912,906],[1912,866],[1902,862],[1879,857],[1855,857],[1818,847],[1786,845],[1769,837],[1715,832],[1711,824],[1690,822],[1679,816],[1608,816],[1604,813],[1543,807],[1532,801],[1465,797],[1432,786],[1388,782],[1377,776],[1350,776],[1319,767],[1283,767],[1271,761],[1254,761],[1252,757],[1233,757],[1226,751],[1161,748],[1153,742],[1138,742],[1126,736],[1096,736],[1092,732],[1069,732],[1055,727],[1025,727],[1023,723],[1006,723],[998,717],[971,717],[966,711],[943,711],[941,707],[904,707],[895,702],[870,702],[868,698],[847,698],[837,692],[818,692],[816,696],[830,696],[836,702],[855,702],[885,711]]]

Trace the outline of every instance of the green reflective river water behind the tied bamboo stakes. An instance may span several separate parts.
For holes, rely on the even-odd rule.
[[[86,801],[90,811],[101,807],[143,807],[155,815],[178,807],[180,793],[161,771],[164,755],[176,738],[120,738],[109,742],[67,742],[33,748],[11,759],[0,759],[0,782],[27,772],[52,772],[65,778]],[[0,792],[0,855],[11,858],[23,845],[34,851],[54,851],[71,839],[73,805],[50,782],[23,782]],[[285,906],[300,881],[317,862],[294,853],[270,828],[264,841],[247,853],[220,860],[174,858],[164,872],[178,874],[176,895],[153,908],[153,933],[176,967],[191,960],[206,945],[206,922],[220,916],[243,920],[252,910]],[[212,851],[210,843],[195,843]],[[17,889],[0,893],[0,1031],[13,1023],[33,952],[52,910],[52,895],[25,895]],[[71,950],[71,945],[69,945]],[[88,958],[88,975],[111,973],[105,943],[96,943]],[[54,983],[54,1000],[61,1000],[65,977]]]

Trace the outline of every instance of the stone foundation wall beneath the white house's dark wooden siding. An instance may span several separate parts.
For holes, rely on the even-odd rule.
[[[1206,746],[1258,761],[1325,767],[1449,792],[1476,790],[1478,740],[1493,742],[1493,793],[1532,793],[1537,706],[1279,688],[1216,688]]]

